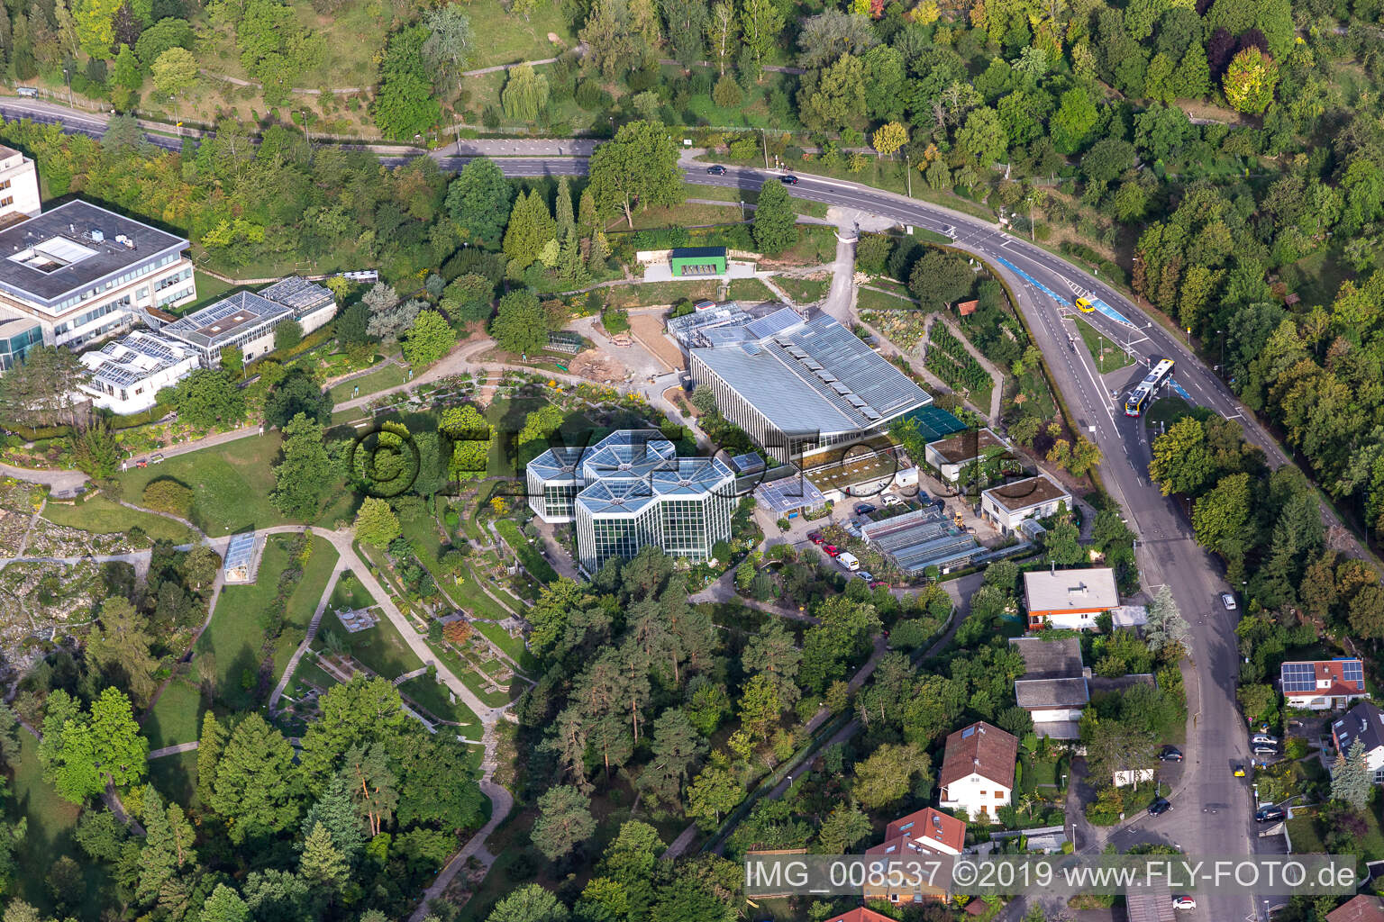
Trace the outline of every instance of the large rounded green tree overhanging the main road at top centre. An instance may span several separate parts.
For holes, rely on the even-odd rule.
[[[673,135],[653,122],[621,124],[614,140],[591,155],[591,195],[602,214],[623,211],[634,227],[632,206],[677,205],[682,200],[682,171]]]

